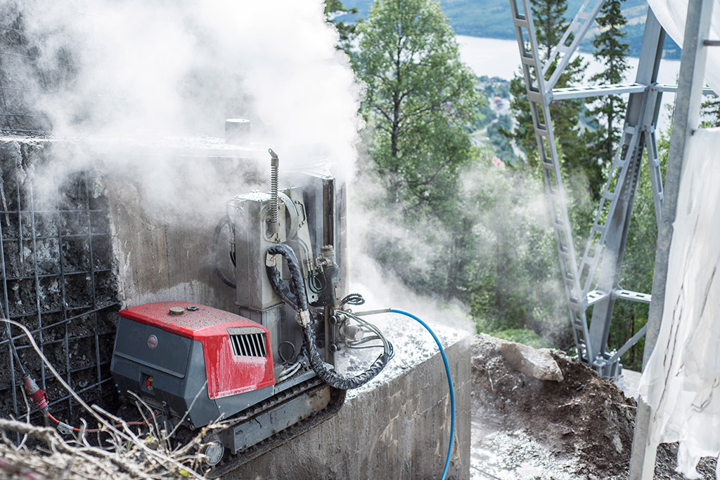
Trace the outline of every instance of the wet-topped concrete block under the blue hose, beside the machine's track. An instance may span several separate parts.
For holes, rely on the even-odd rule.
[[[450,434],[445,368],[434,343],[433,354],[428,343],[401,341],[407,340],[408,328],[410,324],[400,320],[383,328],[395,343],[395,359],[382,377],[348,392],[348,400],[335,417],[225,479],[438,479]],[[417,328],[420,335],[427,335]],[[455,440],[448,478],[467,480],[472,337],[432,328],[443,343],[454,384]],[[423,353],[418,355],[418,351]],[[411,365],[415,359],[419,361]]]

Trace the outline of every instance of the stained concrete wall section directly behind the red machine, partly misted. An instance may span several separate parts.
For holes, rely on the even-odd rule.
[[[253,180],[256,163],[231,154],[200,149],[106,162],[102,182],[123,305],[184,300],[237,311],[235,290],[215,274],[213,232],[228,200],[268,179]],[[117,171],[125,162],[132,172]],[[220,254],[229,265],[227,248]]]

